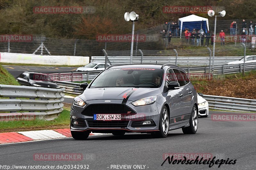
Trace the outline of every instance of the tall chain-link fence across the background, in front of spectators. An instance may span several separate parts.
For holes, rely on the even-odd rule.
[[[218,18],[220,19],[220,18]],[[230,24],[233,22],[233,20],[218,20],[217,19],[217,36],[216,36],[216,51],[218,53],[218,50],[233,50],[234,48],[239,48],[241,42],[244,41],[245,37],[245,43],[250,45],[250,42],[252,40],[252,36],[249,35],[241,35],[242,33],[242,20],[237,19],[235,20],[237,22],[237,32],[236,36],[232,35],[230,36]],[[255,23],[255,20],[252,20],[253,23]],[[249,21],[247,21],[247,27],[249,27]],[[142,49],[144,51],[147,50],[156,50],[156,54],[153,51],[148,52],[148,54],[145,54],[145,56],[156,56],[158,53],[163,55],[167,52],[164,50],[158,50],[158,49],[171,49],[169,50],[172,54],[166,54],[166,55],[175,55],[172,49],[180,50],[179,54],[182,56],[202,56],[202,53],[208,53],[206,49],[200,49],[200,48],[194,48],[194,46],[211,46],[212,44],[212,37],[207,39],[206,37],[203,38],[203,43],[201,41],[198,43],[198,40],[192,39],[191,37],[185,37],[176,36],[173,35],[171,38],[166,36],[166,34],[163,34],[163,30],[166,28],[166,25],[159,25],[156,27],[151,27],[144,30],[135,31],[134,37],[136,39],[136,36],[143,36],[145,37],[144,41],[139,41],[136,39],[134,41],[133,49],[135,50],[135,53],[133,55],[138,55],[138,49]],[[209,28],[210,32],[213,32],[214,29],[214,20],[209,20]],[[226,47],[220,47],[220,37],[219,32],[220,30],[224,30],[226,33],[225,37],[225,45]],[[178,31],[179,33],[179,31]],[[127,34],[128,35],[128,34]],[[129,34],[130,35],[130,34]],[[253,35],[255,35],[253,33]],[[103,55],[102,49],[107,49],[110,51],[129,51],[131,49],[131,42],[129,41],[112,41],[112,40],[106,40],[104,41],[98,41],[98,40],[81,40],[81,39],[53,39],[53,38],[44,38],[38,39],[38,36],[33,37],[33,41],[30,42],[3,42],[0,41],[0,52],[10,52],[10,53],[27,53],[27,54],[42,54],[42,55],[48,55],[47,50],[49,51],[50,55],[76,55],[76,56],[98,56]],[[97,39],[97,37],[96,37]],[[206,41],[209,41],[209,44],[205,44]],[[42,46],[43,43],[43,46]],[[189,49],[194,48],[194,49]],[[37,49],[37,51],[36,51]],[[47,49],[47,50],[46,50]],[[181,50],[182,49],[182,50]],[[161,51],[161,52],[160,52]],[[167,50],[168,51],[168,50]],[[184,53],[184,54],[182,54]],[[118,54],[120,55],[120,54]],[[126,54],[126,56],[129,56],[130,54]],[[115,55],[113,55],[115,56]],[[203,55],[207,56],[207,55]],[[217,56],[217,55],[216,55]],[[221,55],[219,55],[221,56]]]

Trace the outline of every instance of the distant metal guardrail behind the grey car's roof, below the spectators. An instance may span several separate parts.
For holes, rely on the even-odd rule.
[[[227,57],[214,57],[214,65],[223,65],[231,61],[237,61],[243,58],[243,56],[227,56]],[[108,56],[108,60],[111,64],[130,64],[130,56]],[[139,64],[139,63],[172,63],[175,64],[176,56],[133,56],[132,57],[132,63],[133,64]],[[200,57],[200,56],[194,56],[194,57],[183,57],[178,56],[177,57],[177,64],[180,66],[185,65],[199,65],[199,66],[205,66],[209,65],[210,57]],[[105,56],[92,56],[91,62],[96,63],[105,63]]]

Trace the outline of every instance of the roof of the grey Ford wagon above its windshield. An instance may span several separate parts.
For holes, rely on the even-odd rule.
[[[143,64],[116,64],[116,65],[111,65],[109,66],[107,69],[111,68],[111,69],[118,69],[118,68],[152,68],[152,69],[163,69],[164,67],[171,67],[171,68],[175,68],[175,69],[181,69],[179,66],[174,65],[174,64],[151,64],[151,63],[143,63]],[[183,70],[184,71],[184,70]]]

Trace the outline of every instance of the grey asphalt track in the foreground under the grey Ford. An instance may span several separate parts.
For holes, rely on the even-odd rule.
[[[199,118],[195,135],[184,135],[181,129],[169,131],[166,138],[152,138],[149,134],[130,133],[118,137],[90,136],[79,141],[73,138],[0,145],[1,165],[89,165],[90,169],[113,169],[111,165],[145,165],[145,169],[256,169],[256,126],[253,122],[212,121]],[[232,114],[232,112],[228,112]],[[81,153],[80,161],[38,161],[36,153]],[[235,165],[180,165],[164,162],[170,153],[210,154],[216,159],[236,159]],[[143,167],[143,166],[142,166]]]

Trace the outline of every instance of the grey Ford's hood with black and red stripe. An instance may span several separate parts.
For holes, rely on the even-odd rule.
[[[132,88],[132,87],[105,87],[105,88],[87,88],[83,94],[79,95],[84,101],[87,100],[139,100],[149,96],[161,94],[159,88]]]

